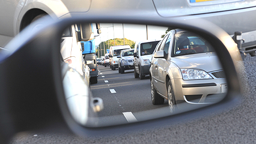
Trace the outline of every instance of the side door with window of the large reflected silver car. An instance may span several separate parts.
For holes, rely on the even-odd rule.
[[[164,51],[168,57],[166,58],[158,58],[157,61],[157,70],[158,70],[158,79],[159,79],[159,83],[158,83],[158,92],[163,94],[164,96],[167,97],[167,90],[166,90],[166,75],[167,75],[167,70],[168,67],[170,65],[170,63],[168,62],[168,58],[169,58],[169,47],[170,47],[170,43],[172,41],[172,33],[170,33],[169,35],[166,36],[166,40],[164,42],[162,42],[161,47],[160,47],[160,51]]]

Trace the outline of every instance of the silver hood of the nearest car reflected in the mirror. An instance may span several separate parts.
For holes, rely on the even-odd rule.
[[[206,72],[222,70],[220,60],[215,52],[172,57],[171,61],[179,68],[195,68]]]

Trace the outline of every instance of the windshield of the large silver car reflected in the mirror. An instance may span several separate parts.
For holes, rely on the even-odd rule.
[[[177,33],[174,37],[173,56],[214,52],[207,41],[194,33]]]

